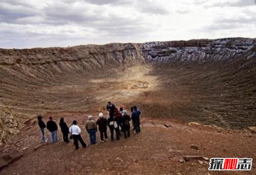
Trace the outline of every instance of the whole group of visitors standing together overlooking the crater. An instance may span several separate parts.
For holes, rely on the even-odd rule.
[[[88,120],[85,122],[85,129],[89,134],[91,144],[96,144],[96,133],[98,130],[100,131],[101,142],[108,141],[108,128],[110,130],[112,142],[114,142],[114,132],[116,135],[116,140],[120,139],[121,133],[123,133],[124,138],[130,137],[131,120],[135,133],[141,132],[141,111],[136,106],[130,108],[131,117],[128,115],[127,110],[124,110],[123,108],[118,110],[115,107],[115,104],[112,104],[111,102],[108,102],[106,109],[108,110],[109,114],[108,118],[104,117],[103,113],[99,113],[99,119],[97,121],[94,121],[93,116],[88,116]],[[38,116],[38,124],[42,135],[42,141],[47,142],[47,138],[45,137],[45,129],[50,132],[50,143],[59,141],[57,134],[58,126],[54,122],[53,117],[49,117],[49,121],[46,124],[43,122],[42,118],[43,117],[41,115]],[[79,149],[78,142],[81,143],[83,148],[88,146],[81,137],[81,128],[77,125],[76,120],[74,120],[72,126],[68,128],[67,123],[64,122],[64,118],[61,118],[59,125],[61,127],[64,142],[69,143],[69,140],[73,139],[75,149]]]

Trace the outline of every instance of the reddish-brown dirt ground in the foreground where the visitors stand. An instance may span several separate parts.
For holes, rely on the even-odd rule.
[[[59,122],[65,117],[68,125],[75,118],[82,129],[86,143],[88,134],[82,122],[88,114],[97,112],[66,111],[48,113]],[[168,127],[164,126],[166,124]],[[224,130],[209,126],[188,126],[177,120],[143,118],[141,134],[111,143],[99,142],[88,148],[74,150],[72,143],[63,143],[62,139],[47,144],[34,151],[40,144],[40,132],[37,123],[28,130],[24,128],[15,146],[9,151],[19,150],[24,156],[3,169],[2,175],[254,175],[255,166],[248,172],[209,172],[208,164],[197,161],[179,162],[181,156],[205,157],[249,157],[256,159],[256,136],[245,130]],[[109,133],[108,133],[109,135]],[[61,133],[59,131],[61,138]],[[110,136],[110,135],[109,135]],[[199,150],[191,149],[195,144]],[[206,162],[208,163],[208,162]]]

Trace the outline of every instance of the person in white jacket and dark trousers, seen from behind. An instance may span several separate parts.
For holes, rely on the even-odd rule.
[[[70,126],[69,128],[69,132],[70,132],[70,135],[73,137],[74,139],[74,146],[75,146],[75,149],[78,149],[79,146],[78,146],[78,141],[81,143],[82,147],[83,148],[86,148],[87,147],[87,144],[84,143],[80,133],[81,133],[81,129],[79,128],[79,126],[77,126],[77,122],[76,120],[73,121],[73,124],[72,126]]]

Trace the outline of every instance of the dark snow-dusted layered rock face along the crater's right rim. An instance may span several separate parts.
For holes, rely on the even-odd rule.
[[[245,59],[256,56],[256,39],[199,39],[189,41],[148,42],[142,51],[149,62],[212,62],[235,59],[247,52]]]

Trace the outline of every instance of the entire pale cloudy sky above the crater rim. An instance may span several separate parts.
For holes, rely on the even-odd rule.
[[[256,38],[256,0],[0,0],[0,48]]]

